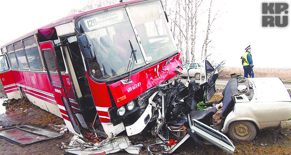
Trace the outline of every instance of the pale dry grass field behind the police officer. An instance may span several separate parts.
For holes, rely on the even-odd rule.
[[[219,71],[220,79],[229,79],[230,74],[237,73],[243,75],[243,68],[224,67]],[[254,68],[255,78],[279,77],[283,82],[291,82],[291,69],[279,68]]]

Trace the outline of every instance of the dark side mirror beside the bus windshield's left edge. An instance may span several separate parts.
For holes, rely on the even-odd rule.
[[[90,38],[86,34],[81,34],[78,36],[79,47],[85,59],[94,58],[94,50]]]

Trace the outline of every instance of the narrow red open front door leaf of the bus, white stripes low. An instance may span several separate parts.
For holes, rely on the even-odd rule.
[[[61,72],[58,67],[56,53],[51,41],[40,43],[42,56],[44,58],[45,67],[48,72],[49,80],[52,86],[52,92],[55,100],[58,104],[62,117],[69,131],[83,137],[80,130],[80,125],[77,121],[77,117],[73,112],[72,106],[68,100],[68,96],[65,90],[65,84],[63,81]]]

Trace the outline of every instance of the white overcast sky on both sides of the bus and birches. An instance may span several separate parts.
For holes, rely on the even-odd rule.
[[[262,2],[289,4],[288,26],[263,28]],[[87,0],[1,0],[0,46],[66,16],[70,9],[79,9]],[[213,7],[224,13],[211,34],[215,47],[210,59],[226,61],[226,66],[240,67],[244,48],[252,47],[255,67],[291,68],[291,2],[290,0],[214,0]]]

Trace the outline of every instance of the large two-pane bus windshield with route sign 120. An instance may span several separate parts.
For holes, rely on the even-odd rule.
[[[89,70],[99,80],[120,76],[178,51],[160,1],[102,11],[81,18],[78,25],[93,46],[95,58],[88,60]]]

